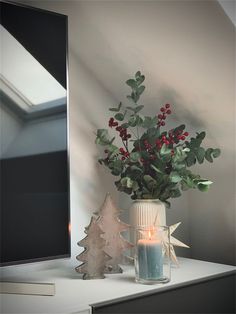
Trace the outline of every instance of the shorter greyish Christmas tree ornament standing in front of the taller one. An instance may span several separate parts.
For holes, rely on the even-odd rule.
[[[103,251],[106,241],[101,237],[101,230],[95,217],[91,218],[90,224],[85,228],[87,236],[78,242],[85,250],[76,256],[77,260],[83,262],[75,268],[82,273],[83,279],[103,279],[106,262],[110,257]]]

